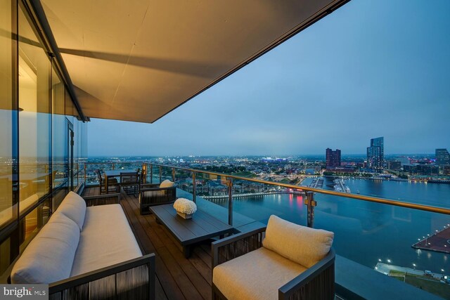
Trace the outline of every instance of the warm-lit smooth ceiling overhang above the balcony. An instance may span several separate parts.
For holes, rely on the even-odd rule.
[[[84,115],[152,123],[347,1],[41,3]]]

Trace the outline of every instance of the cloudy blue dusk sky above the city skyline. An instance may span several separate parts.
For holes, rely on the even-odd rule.
[[[89,156],[450,148],[450,1],[350,1],[154,124],[92,119]]]

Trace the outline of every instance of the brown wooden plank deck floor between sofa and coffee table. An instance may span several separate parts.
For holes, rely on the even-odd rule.
[[[86,188],[83,195],[98,195]],[[186,259],[181,246],[153,215],[141,216],[134,196],[122,193],[121,204],[144,254],[156,254],[156,299],[211,299],[210,243],[193,247]]]

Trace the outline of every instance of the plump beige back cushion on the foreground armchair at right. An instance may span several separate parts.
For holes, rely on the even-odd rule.
[[[286,259],[311,268],[330,252],[333,237],[330,231],[300,226],[272,215],[262,244]]]

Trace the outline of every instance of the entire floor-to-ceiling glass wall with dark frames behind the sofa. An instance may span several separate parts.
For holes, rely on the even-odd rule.
[[[77,187],[87,155],[86,124],[28,5],[0,1],[0,283]]]

